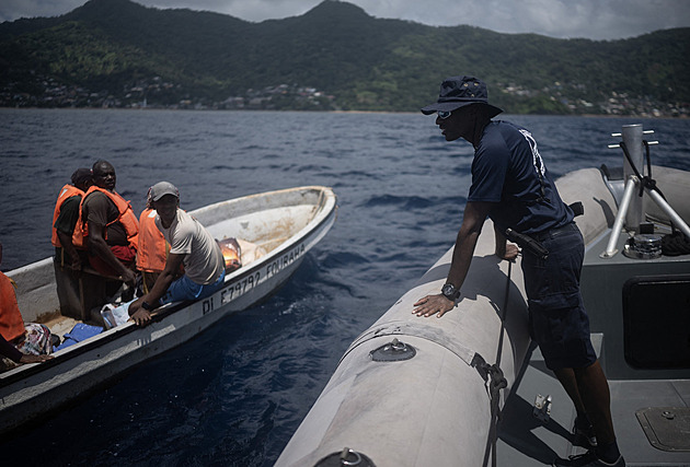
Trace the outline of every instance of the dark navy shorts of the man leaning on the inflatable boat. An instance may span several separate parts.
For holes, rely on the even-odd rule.
[[[574,222],[531,236],[549,250],[549,257],[522,254],[530,335],[550,370],[589,366],[597,355],[579,293],[583,236]]]

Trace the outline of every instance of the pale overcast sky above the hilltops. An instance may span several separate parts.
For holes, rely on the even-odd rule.
[[[135,0],[188,8],[261,22],[298,16],[322,0]],[[376,17],[435,26],[469,24],[499,33],[618,39],[652,31],[690,26],[690,0],[348,0]],[[0,0],[0,22],[57,16],[85,0]]]

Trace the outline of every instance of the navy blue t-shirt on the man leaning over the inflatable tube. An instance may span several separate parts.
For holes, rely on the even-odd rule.
[[[469,201],[496,202],[490,218],[504,232],[531,234],[573,220],[529,131],[509,121],[491,121],[474,151]]]

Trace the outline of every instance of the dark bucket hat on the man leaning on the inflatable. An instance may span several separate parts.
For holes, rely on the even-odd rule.
[[[452,112],[468,105],[481,105],[488,118],[493,118],[503,110],[488,103],[488,91],[482,80],[473,77],[451,77],[441,83],[438,101],[422,108],[424,115],[435,112]]]

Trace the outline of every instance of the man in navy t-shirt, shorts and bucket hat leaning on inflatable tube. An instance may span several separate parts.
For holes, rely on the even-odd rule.
[[[577,411],[574,431],[590,450],[556,466],[623,467],[611,420],[609,385],[589,338],[589,318],[579,292],[584,241],[573,211],[561,200],[529,131],[493,121],[502,109],[488,104],[486,85],[472,77],[441,83],[438,101],[422,108],[437,114],[447,141],[463,138],[474,147],[472,186],[456,240],[448,279],[439,294],[414,306],[417,316],[444,316],[460,297],[476,241],[490,217],[496,230],[496,255],[513,260],[507,229],[541,243],[544,259],[525,252],[521,267],[530,313],[530,335]]]

